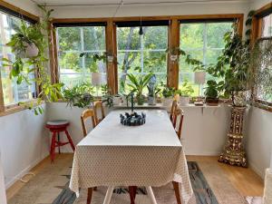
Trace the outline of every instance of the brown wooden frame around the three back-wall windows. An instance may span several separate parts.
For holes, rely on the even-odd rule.
[[[180,46],[180,21],[182,20],[222,20],[222,19],[238,19],[239,34],[243,34],[244,15],[243,14],[227,14],[227,15],[162,15],[162,16],[137,16],[137,17],[109,17],[109,18],[54,18],[51,22],[52,44],[50,46],[51,72],[58,76],[58,64],[56,58],[56,39],[53,24],[81,24],[92,22],[104,22],[106,25],[106,51],[108,53],[117,54],[116,43],[116,25],[117,22],[130,21],[170,21],[169,27],[169,47]],[[113,39],[113,40],[112,40]],[[168,55],[167,67],[167,84],[170,87],[178,88],[179,86],[179,63],[170,63],[170,54]],[[108,86],[112,94],[118,93],[118,69],[117,63],[107,64]],[[52,77],[53,77],[52,75]],[[58,77],[52,78],[53,83],[58,83]]]

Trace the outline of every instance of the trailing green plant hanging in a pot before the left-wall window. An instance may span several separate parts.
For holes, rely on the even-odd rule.
[[[12,34],[7,45],[15,53],[15,60],[2,59],[4,67],[11,67],[10,79],[15,79],[17,84],[24,82],[31,85],[36,83],[37,87],[40,87],[41,91],[36,101],[37,106],[34,107],[34,102],[19,103],[28,109],[33,109],[35,115],[44,112],[40,106],[43,100],[57,102],[63,96],[61,92],[63,83],[51,83],[50,74],[47,72],[48,59],[45,56],[47,44],[51,44],[52,40],[49,39],[49,42],[46,42],[50,15],[53,10],[47,11],[42,5],[39,7],[44,13],[44,20],[30,25],[25,24],[22,20],[20,26],[14,25],[16,34]],[[37,73],[35,79],[29,77],[30,73]]]

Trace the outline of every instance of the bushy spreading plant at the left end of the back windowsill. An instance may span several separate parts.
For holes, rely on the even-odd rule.
[[[91,83],[78,83],[73,88],[63,89],[63,98],[70,107],[89,107],[94,101],[94,87]]]

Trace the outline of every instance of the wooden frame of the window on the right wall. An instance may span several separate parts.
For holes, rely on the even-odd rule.
[[[252,34],[251,42],[255,44],[258,39],[261,39],[261,30],[262,30],[262,19],[267,15],[272,14],[272,3],[262,6],[259,8],[252,19]],[[257,92],[253,91],[253,97],[255,103],[253,104],[257,108],[272,112],[272,102],[266,102],[263,100],[257,99]]]

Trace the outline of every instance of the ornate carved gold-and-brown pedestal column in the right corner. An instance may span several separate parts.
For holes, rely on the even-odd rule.
[[[219,156],[219,162],[247,167],[246,152],[243,148],[243,120],[247,107],[231,108],[230,130],[224,151]]]

